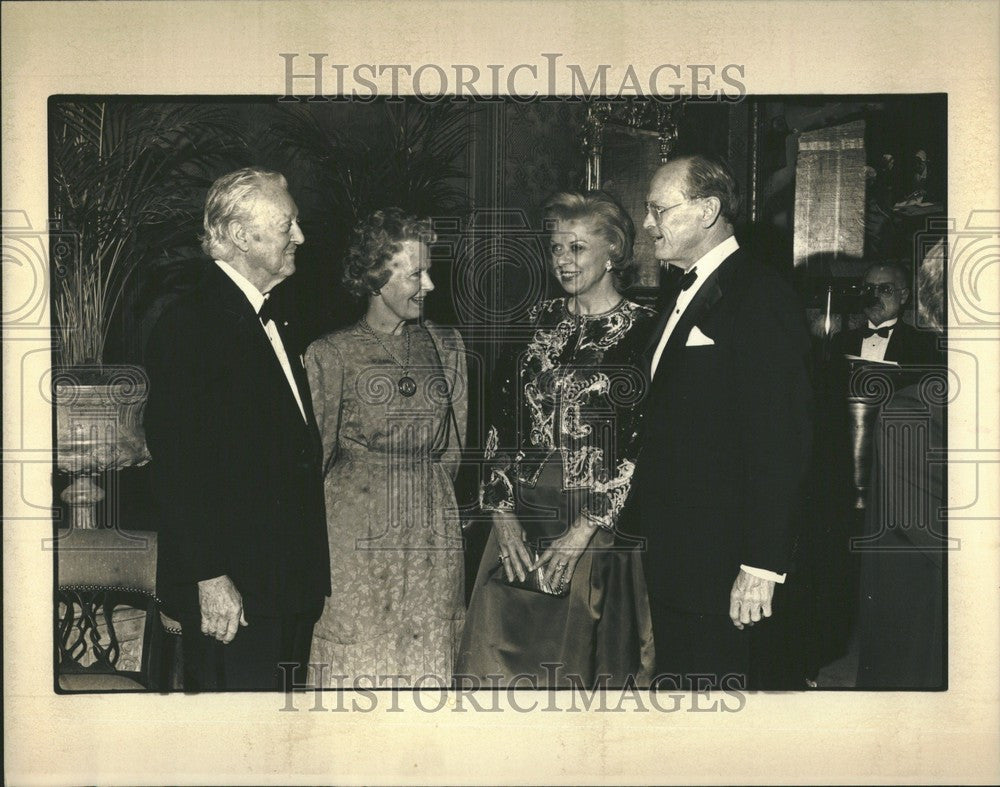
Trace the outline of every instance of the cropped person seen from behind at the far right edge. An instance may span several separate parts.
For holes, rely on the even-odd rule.
[[[921,263],[921,324],[944,324],[944,247]],[[941,358],[944,361],[943,355]],[[858,688],[947,687],[948,377],[924,369],[893,391],[874,428],[861,556]]]

